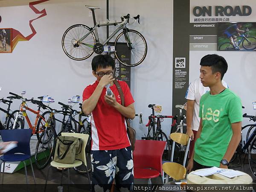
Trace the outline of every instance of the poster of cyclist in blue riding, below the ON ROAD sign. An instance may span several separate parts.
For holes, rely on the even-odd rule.
[[[256,51],[256,23],[218,23],[218,51]]]

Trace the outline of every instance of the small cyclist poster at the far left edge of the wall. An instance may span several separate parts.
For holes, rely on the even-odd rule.
[[[0,53],[12,52],[12,29],[0,29]]]

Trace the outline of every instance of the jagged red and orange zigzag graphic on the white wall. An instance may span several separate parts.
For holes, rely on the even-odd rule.
[[[17,43],[19,41],[29,41],[32,37],[34,37],[34,35],[36,34],[36,31],[35,31],[35,28],[32,25],[32,22],[34,20],[37,20],[37,19],[47,15],[45,9],[39,11],[38,9],[35,8],[35,5],[46,2],[46,1],[49,1],[49,0],[38,0],[38,1],[34,1],[34,2],[29,3],[29,7],[33,10],[33,12],[35,12],[35,14],[41,14],[41,15],[38,16],[35,19],[29,20],[29,26],[32,30],[32,33],[30,35],[26,36],[26,37],[24,37],[24,35],[22,35],[22,33],[17,31],[16,29],[12,29],[12,50],[15,48],[15,46],[17,45]]]

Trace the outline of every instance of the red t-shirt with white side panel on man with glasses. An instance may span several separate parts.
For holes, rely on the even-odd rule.
[[[89,99],[96,89],[99,81],[85,87],[83,92],[83,101]],[[125,107],[134,103],[128,84],[125,81],[119,81],[125,97]],[[116,101],[121,104],[121,98],[116,85],[111,87]],[[106,88],[102,90],[102,94],[97,102],[96,107],[91,114],[92,127],[92,150],[115,150],[130,146],[127,135],[125,117],[122,116],[112,106],[105,102]]]

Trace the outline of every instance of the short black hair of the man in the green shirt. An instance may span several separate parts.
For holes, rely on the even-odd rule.
[[[201,58],[200,65],[211,67],[212,73],[221,73],[221,80],[223,79],[224,74],[227,72],[227,61],[220,55],[205,55],[203,58]]]

